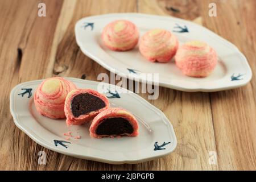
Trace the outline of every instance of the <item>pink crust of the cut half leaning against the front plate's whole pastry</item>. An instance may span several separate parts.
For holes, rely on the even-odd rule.
[[[106,106],[103,107],[102,109],[92,111],[88,114],[82,114],[79,117],[75,117],[71,110],[71,102],[75,96],[82,94],[82,93],[89,93],[89,94],[92,94],[93,96],[99,97],[102,101],[105,102]],[[68,126],[69,125],[82,125],[85,122],[91,121],[98,113],[101,113],[105,109],[108,109],[108,107],[109,107],[108,98],[106,98],[106,96],[104,96],[103,94],[98,93],[96,90],[92,90],[92,89],[73,90],[72,92],[68,93],[68,96],[66,97],[66,100],[65,100],[64,111],[65,111],[65,115],[67,118],[66,123]]]

